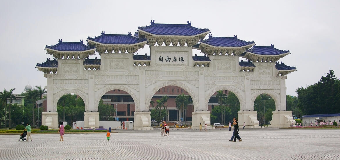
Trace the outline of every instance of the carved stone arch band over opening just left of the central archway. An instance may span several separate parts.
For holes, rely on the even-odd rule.
[[[98,111],[98,105],[99,105],[99,101],[100,99],[103,97],[103,95],[110,91],[110,90],[123,90],[127,93],[130,94],[130,96],[132,97],[133,101],[135,102],[135,107],[136,107],[136,111],[139,110],[139,99],[137,98],[136,94],[131,91],[128,87],[124,87],[122,85],[111,85],[106,87],[97,97],[96,97],[96,101],[95,101],[95,110]]]

